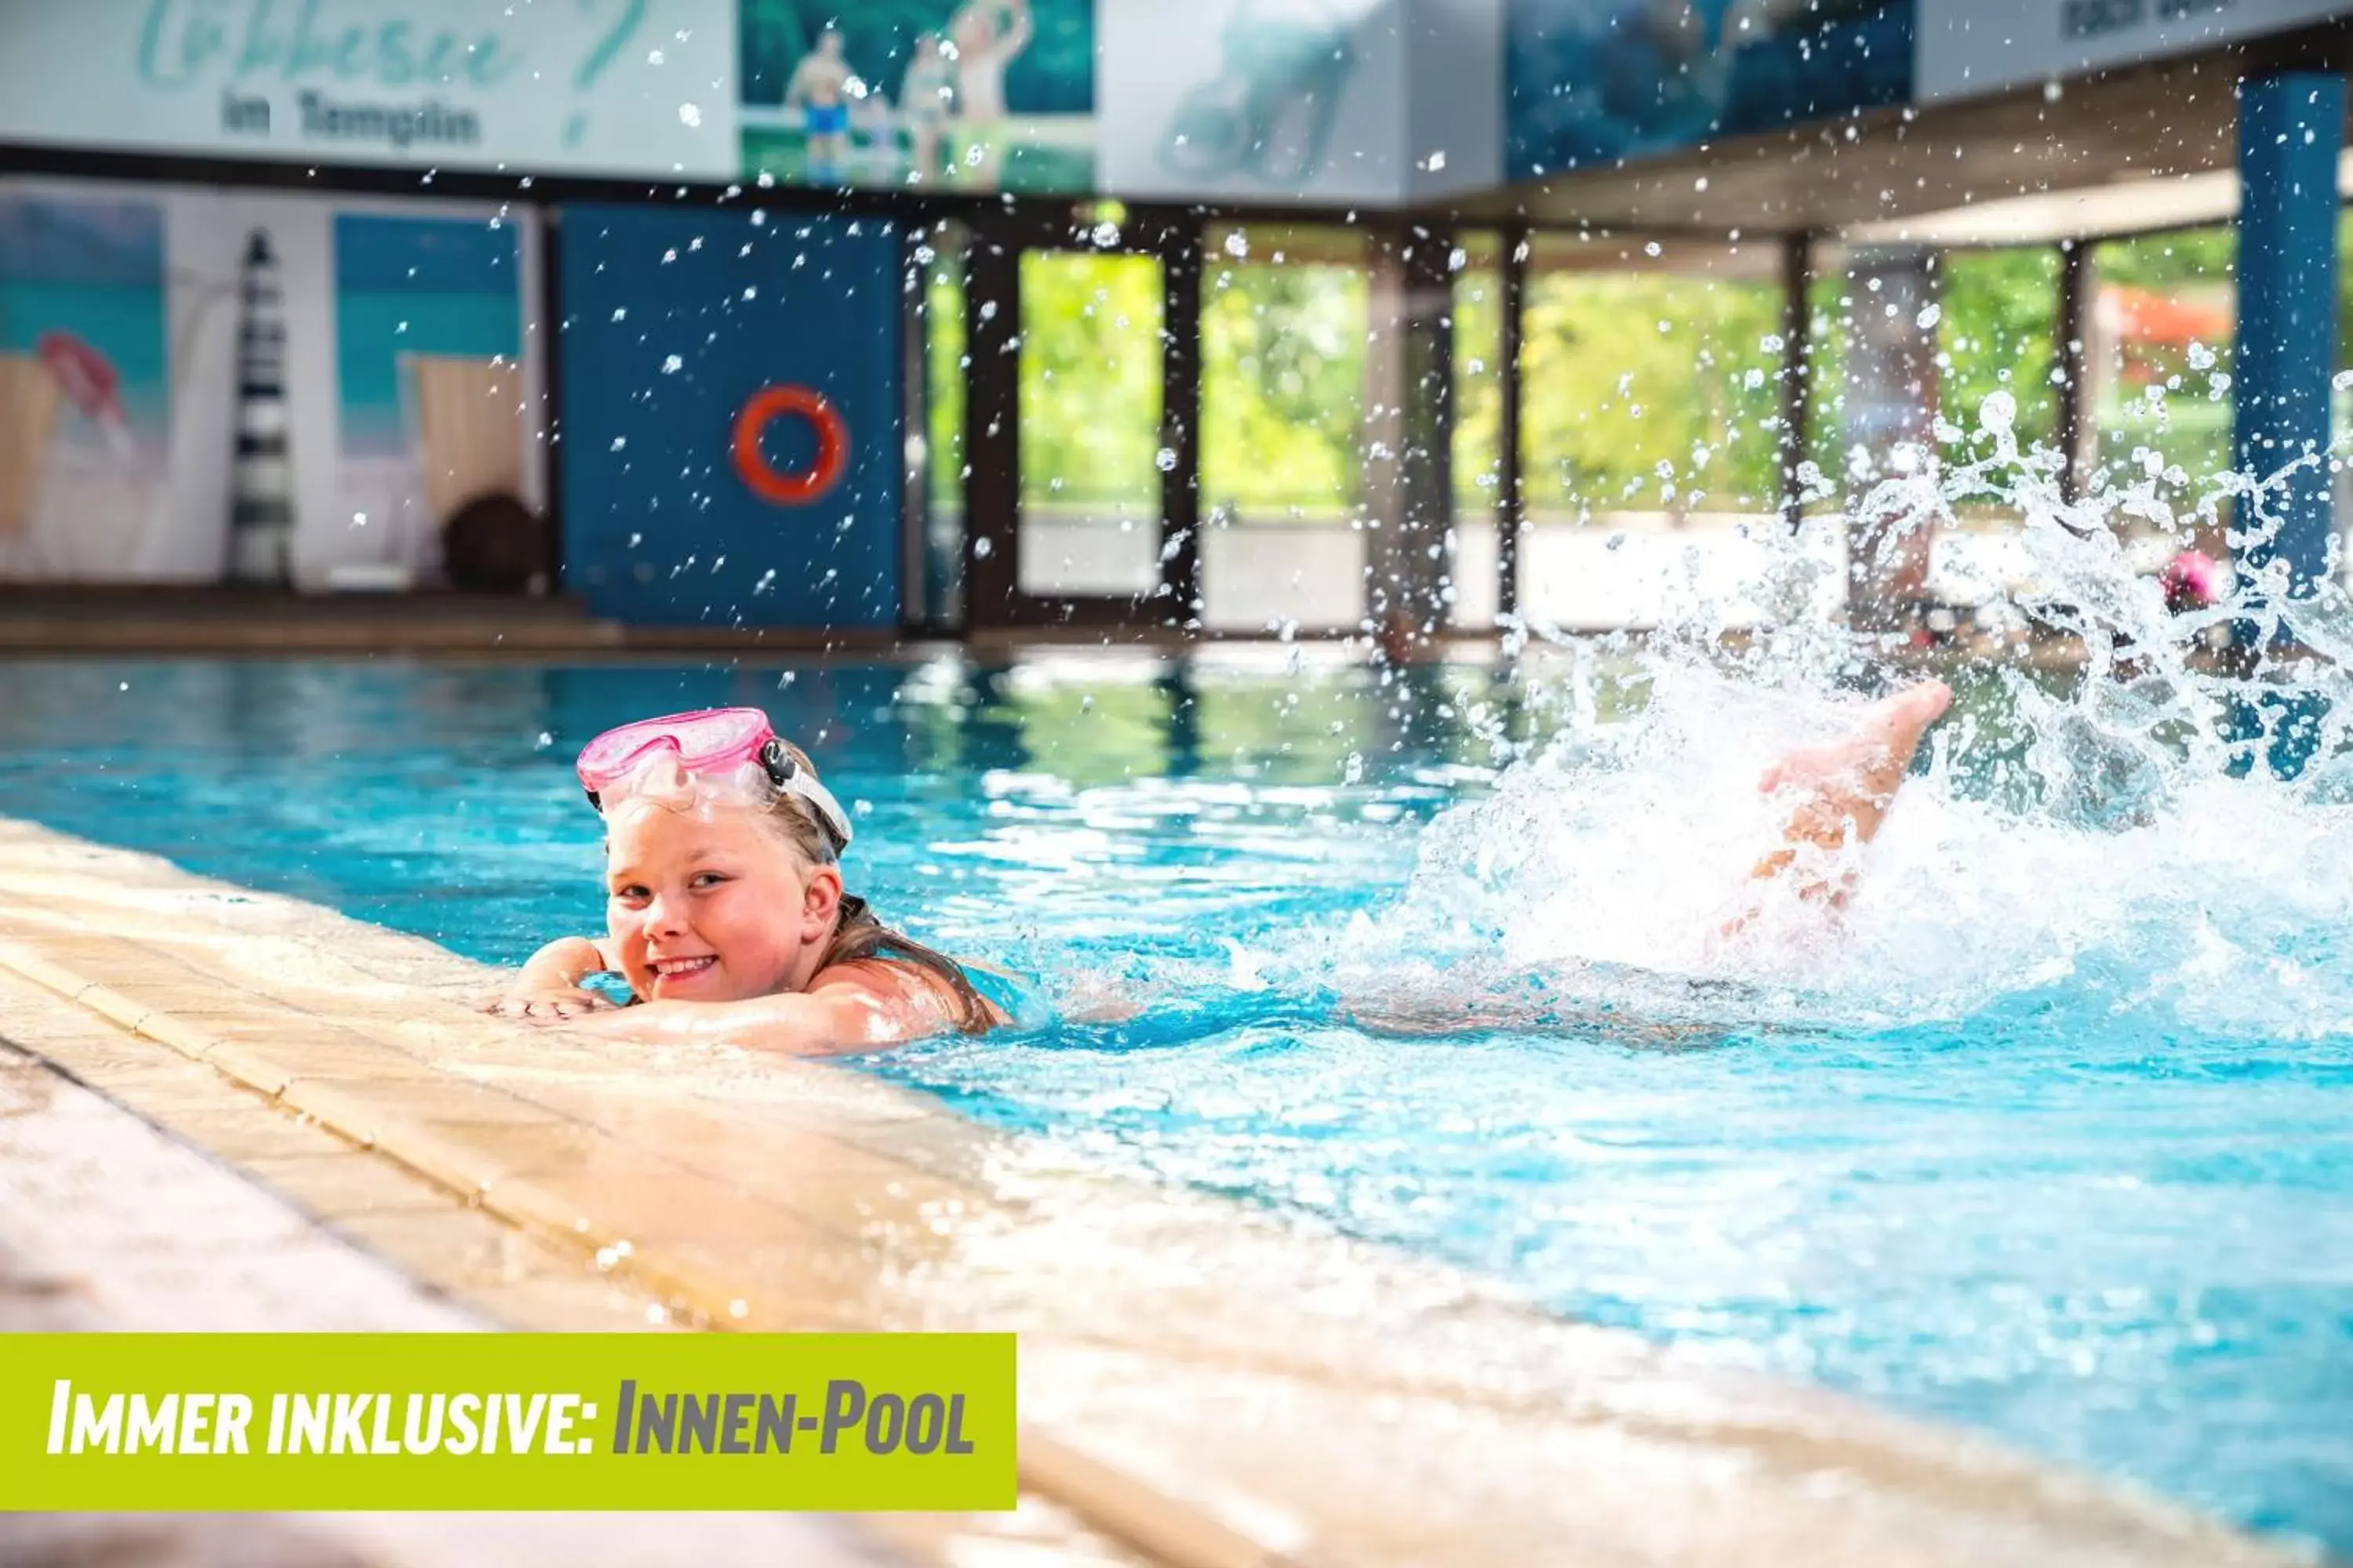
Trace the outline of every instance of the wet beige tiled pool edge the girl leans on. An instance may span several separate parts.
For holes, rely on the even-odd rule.
[[[1986,1439],[1073,1166],[854,1067],[485,1018],[485,980],[0,818],[19,1079],[104,1095],[492,1326],[1014,1331],[1019,1561],[2297,1561]],[[0,1244],[21,1201],[0,1180]],[[1002,1521],[849,1528],[915,1563],[1007,1544]]]

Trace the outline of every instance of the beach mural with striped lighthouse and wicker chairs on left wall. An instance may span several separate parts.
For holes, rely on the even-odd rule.
[[[546,503],[534,223],[0,179],[0,583],[398,590]]]

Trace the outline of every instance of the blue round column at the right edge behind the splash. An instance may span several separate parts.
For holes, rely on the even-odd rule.
[[[2257,480],[2297,468],[2264,510],[2280,529],[2240,555],[2240,581],[2273,559],[2301,597],[2329,557],[2329,371],[2337,357],[2337,153],[2346,80],[2282,73],[2238,96],[2238,423],[2231,463]],[[2240,517],[2245,529],[2252,520]]]

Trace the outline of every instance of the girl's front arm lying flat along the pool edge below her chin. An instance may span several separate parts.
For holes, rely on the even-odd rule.
[[[899,964],[835,964],[805,992],[744,1001],[647,1001],[574,1027],[647,1044],[744,1046],[786,1056],[885,1051],[951,1027],[936,987]],[[558,1018],[532,1016],[532,1023]]]

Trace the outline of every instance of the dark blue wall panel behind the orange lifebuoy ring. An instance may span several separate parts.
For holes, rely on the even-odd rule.
[[[565,585],[649,625],[899,623],[899,235],[845,216],[565,207]],[[758,498],[732,461],[760,388],[821,393],[849,433],[807,505]],[[767,428],[781,470],[814,456]]]

